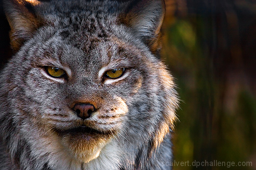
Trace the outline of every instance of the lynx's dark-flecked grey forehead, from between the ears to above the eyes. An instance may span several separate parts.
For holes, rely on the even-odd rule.
[[[111,61],[127,64],[138,55],[136,48],[127,41],[126,29],[118,25],[121,4],[60,0],[52,1],[49,6],[51,8],[45,7],[47,12],[44,12],[46,26],[39,34],[48,41],[44,43],[48,46],[45,49],[51,49],[54,59],[67,64],[83,64],[86,68],[88,64],[104,66]]]

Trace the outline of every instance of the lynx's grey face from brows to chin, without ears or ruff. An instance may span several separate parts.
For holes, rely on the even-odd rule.
[[[50,41],[61,38],[57,35]],[[20,101],[26,106],[24,112],[37,117],[45,133],[56,132],[64,146],[84,162],[98,156],[102,147],[122,131],[124,121],[128,120],[128,108],[137,103],[138,91],[146,90],[142,88],[146,81],[143,74],[152,74],[152,79],[156,74],[143,66],[153,64],[152,61],[117,37],[90,41],[94,45],[86,53],[62,40],[54,47],[42,42],[26,50],[25,55],[33,54],[31,58],[27,56],[26,65],[13,66],[27,73],[26,82],[22,82],[27,93]],[[85,42],[84,46],[87,45]],[[52,49],[50,56],[48,49]],[[136,63],[138,58],[147,63]],[[48,67],[63,70],[63,75],[52,76]],[[113,72],[118,68],[120,76],[118,72],[116,78],[108,76],[108,72],[115,76]],[[13,82],[16,83],[21,82]],[[92,108],[86,110],[88,105]],[[84,153],[86,150],[89,153]]]

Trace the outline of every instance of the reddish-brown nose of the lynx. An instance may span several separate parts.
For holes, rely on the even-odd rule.
[[[94,110],[95,107],[92,104],[75,104],[74,106],[77,116],[83,120],[89,118]]]

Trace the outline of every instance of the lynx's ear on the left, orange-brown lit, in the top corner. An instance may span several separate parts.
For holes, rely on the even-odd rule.
[[[40,20],[34,13],[38,0],[4,0],[4,10],[10,24],[10,44],[16,52],[24,41],[30,39],[40,26]]]

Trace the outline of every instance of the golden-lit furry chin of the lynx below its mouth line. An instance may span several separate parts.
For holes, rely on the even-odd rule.
[[[70,152],[70,156],[80,162],[88,163],[100,155],[115,131],[98,131],[80,126],[64,131],[57,130],[57,133],[61,144]]]

